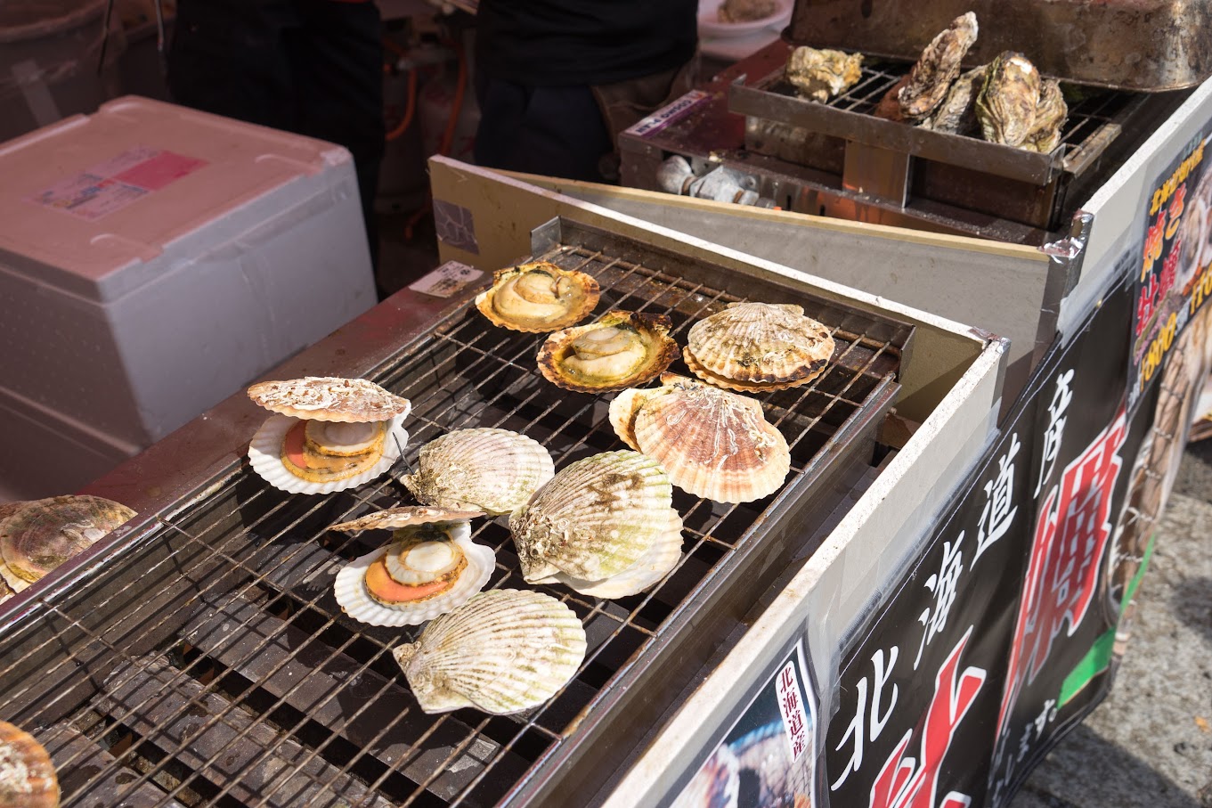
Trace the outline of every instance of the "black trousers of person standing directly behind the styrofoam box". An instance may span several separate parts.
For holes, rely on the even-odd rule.
[[[178,0],[168,51],[177,103],[344,146],[371,255],[383,159],[383,40],[373,2]]]

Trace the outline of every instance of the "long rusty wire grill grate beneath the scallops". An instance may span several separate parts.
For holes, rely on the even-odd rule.
[[[390,655],[417,630],[364,626],[332,597],[336,571],[383,534],[328,525],[411,501],[398,482],[291,496],[246,461],[199,479],[0,613],[0,717],[47,746],[64,806],[585,803],[765,588],[811,553],[870,468],[913,328],[565,220],[536,232],[533,252],[595,275],[599,311],[669,314],[675,337],[743,298],[797,302],[828,325],[830,369],[760,397],[791,448],[784,485],[748,505],[675,490],[686,553],[650,592],[598,601],[537,587],[582,618],[589,650],[545,705],[493,717],[421,712]],[[413,402],[406,459],[470,426],[524,432],[558,468],[621,448],[610,397],[544,381],[541,341],[464,303],[368,374]],[[536,588],[501,520],[479,523],[473,540],[497,553],[490,586]]]

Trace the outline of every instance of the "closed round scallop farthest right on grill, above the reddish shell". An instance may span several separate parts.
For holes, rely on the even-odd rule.
[[[829,363],[829,329],[790,303],[730,303],[691,326],[686,352],[742,385],[805,382]]]

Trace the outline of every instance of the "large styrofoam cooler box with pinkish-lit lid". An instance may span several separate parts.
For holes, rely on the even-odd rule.
[[[338,146],[138,97],[0,144],[0,388],[35,412],[147,446],[375,302]]]

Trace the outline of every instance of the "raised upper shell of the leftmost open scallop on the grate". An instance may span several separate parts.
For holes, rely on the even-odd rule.
[[[372,381],[339,376],[261,382],[248,388],[248,398],[279,415],[311,421],[387,421],[412,409],[408,399]]]

